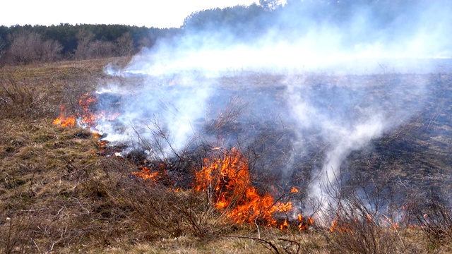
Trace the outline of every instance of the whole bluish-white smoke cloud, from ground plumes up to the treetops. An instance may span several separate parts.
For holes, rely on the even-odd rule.
[[[99,88],[100,107],[115,107],[121,115],[97,128],[106,140],[130,147],[158,144],[166,156],[196,138],[208,140],[206,125],[239,98],[253,120],[233,123],[248,121],[246,135],[261,133],[269,123],[292,133],[285,169],[278,170],[290,171],[294,157],[309,155],[304,151],[310,144],[325,144],[309,195],[326,197],[326,184],[336,184],[350,152],[390,133],[422,105],[425,80],[394,80],[391,73],[431,73],[452,56],[448,1],[344,2],[350,3],[339,8],[326,1],[292,1],[256,17],[266,30],[253,39],[239,40],[222,28],[187,30],[169,44],[143,49],[126,68],[106,68],[131,81]],[[387,78],[376,81],[385,95],[375,93],[373,84],[347,82],[347,75],[374,74]],[[311,76],[326,80],[308,80]],[[343,78],[328,78],[333,76]],[[237,144],[225,138],[220,145]],[[155,147],[147,149],[152,154]]]

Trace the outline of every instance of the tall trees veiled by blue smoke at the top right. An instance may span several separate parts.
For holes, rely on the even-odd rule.
[[[237,40],[253,40],[269,31],[279,36],[304,35],[310,26],[357,27],[359,17],[371,20],[375,30],[391,32],[406,23],[410,29],[413,15],[429,5],[450,6],[446,0],[260,0],[251,6],[234,6],[196,11],[187,16],[184,32],[228,32]],[[369,35],[369,34],[368,34]],[[365,36],[368,36],[365,35]],[[362,36],[364,37],[364,35]],[[359,37],[361,39],[362,37]]]

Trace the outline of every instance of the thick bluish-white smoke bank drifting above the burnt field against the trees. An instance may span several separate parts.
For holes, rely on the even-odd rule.
[[[245,41],[237,42],[237,35],[226,28],[226,32],[223,28],[190,30],[174,44],[144,50],[124,71],[148,75],[187,70],[221,75],[242,69],[356,74],[388,66],[400,72],[425,72],[431,66],[419,59],[451,56],[452,12],[447,1],[349,2],[326,8],[329,4],[324,1],[301,1],[271,16],[256,17],[266,30]]]

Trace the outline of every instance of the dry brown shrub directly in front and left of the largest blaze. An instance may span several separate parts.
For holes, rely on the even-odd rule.
[[[151,237],[210,236],[226,226],[201,193],[176,191],[141,179],[132,179],[124,187],[116,201],[130,207],[141,230]]]

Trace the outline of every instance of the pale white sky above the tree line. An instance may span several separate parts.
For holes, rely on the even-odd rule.
[[[179,28],[194,11],[258,0],[16,0],[1,4],[0,25],[119,24]],[[63,4],[64,3],[64,4]]]

